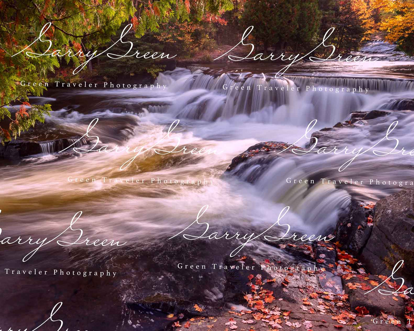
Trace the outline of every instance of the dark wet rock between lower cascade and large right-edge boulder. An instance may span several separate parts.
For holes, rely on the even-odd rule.
[[[353,201],[349,213],[339,218],[335,237],[342,249],[358,256],[371,235],[372,227],[368,225],[368,217],[372,218],[373,208],[368,204]]]

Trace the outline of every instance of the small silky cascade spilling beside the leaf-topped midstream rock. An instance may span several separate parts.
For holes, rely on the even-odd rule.
[[[270,163],[255,162],[253,159],[247,166],[242,163],[231,173],[237,174],[242,180],[250,178],[250,182],[253,182],[265,200],[289,206],[291,212],[303,221],[296,224],[296,227],[304,233],[323,233],[334,226],[338,217],[347,211],[351,195],[332,184],[315,182],[311,185],[308,181],[305,182],[317,177],[318,170],[311,170],[310,167],[302,166],[302,163],[303,160],[298,157],[275,158]],[[293,184],[289,181],[291,178],[303,181]],[[320,218],[320,215],[324,217]]]

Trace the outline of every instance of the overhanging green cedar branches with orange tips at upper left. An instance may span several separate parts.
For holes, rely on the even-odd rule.
[[[43,122],[51,110],[29,104],[28,97],[43,94],[44,86],[21,81],[47,82],[61,61],[82,64],[85,54],[110,41],[123,22],[132,23],[141,37],[171,18],[188,21],[190,11],[201,19],[206,12],[230,9],[231,0],[0,0],[0,120],[10,120],[0,128],[1,143]],[[34,42],[42,29],[48,42]]]

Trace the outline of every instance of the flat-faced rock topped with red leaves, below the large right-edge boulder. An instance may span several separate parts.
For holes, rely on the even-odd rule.
[[[374,275],[367,275],[368,279],[353,277],[351,279],[345,280],[342,279],[344,284],[345,293],[348,294],[349,303],[351,304],[351,309],[356,307],[365,307],[368,309],[369,314],[378,316],[381,314],[381,311],[388,312],[394,316],[404,317],[405,307],[404,300],[401,297],[393,295],[383,295],[378,292],[378,289],[389,290],[387,284],[380,285],[383,281]],[[363,290],[360,287],[352,288],[355,283],[361,284],[361,286],[366,286],[367,288],[373,289],[375,285],[369,283],[369,281],[374,281],[380,285],[375,290],[367,293],[369,290]],[[347,285],[349,284],[349,285]],[[360,286],[360,285],[357,285]],[[397,299],[392,299],[395,297]]]

